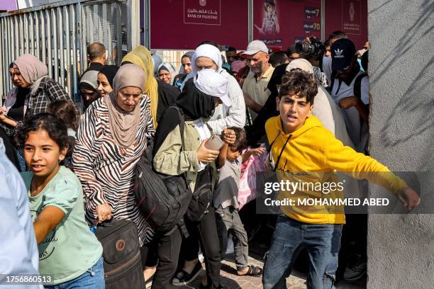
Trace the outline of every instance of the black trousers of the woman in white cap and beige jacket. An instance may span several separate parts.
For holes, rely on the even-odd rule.
[[[183,256],[187,261],[197,258],[199,243],[205,257],[208,288],[220,288],[221,249],[217,234],[216,215],[213,205],[201,222],[185,220],[190,236],[183,241]],[[199,242],[198,242],[199,240]]]

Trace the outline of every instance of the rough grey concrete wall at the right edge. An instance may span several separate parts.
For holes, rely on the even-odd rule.
[[[368,30],[372,156],[433,172],[434,1],[368,0]],[[421,193],[434,195],[433,173]],[[369,215],[368,226],[367,288],[433,288],[434,215]]]

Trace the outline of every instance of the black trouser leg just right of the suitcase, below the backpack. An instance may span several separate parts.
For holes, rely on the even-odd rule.
[[[182,232],[179,228],[175,229],[169,235],[155,235],[152,242],[146,244],[148,247],[148,256],[145,255],[145,249],[142,250],[142,263],[146,266],[157,265],[154,279],[152,280],[152,289],[169,288],[172,283],[172,277],[177,271],[179,250],[182,244]],[[143,247],[142,247],[143,248]],[[156,250],[156,254],[155,254]],[[143,262],[143,260],[146,260]],[[156,262],[158,259],[158,262]]]

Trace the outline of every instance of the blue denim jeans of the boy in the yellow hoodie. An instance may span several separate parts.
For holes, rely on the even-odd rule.
[[[310,263],[307,288],[334,288],[341,234],[342,225],[307,224],[279,216],[265,260],[264,288],[286,288],[286,277],[304,248]]]

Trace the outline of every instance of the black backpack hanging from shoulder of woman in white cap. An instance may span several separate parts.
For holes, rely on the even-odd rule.
[[[184,115],[177,106],[169,106],[168,110],[179,113],[179,130],[181,131],[182,150],[184,150]],[[135,198],[140,212],[155,232],[169,234],[172,229],[180,227],[183,233],[183,216],[189,207],[191,189],[185,174],[169,176],[155,171],[152,165],[153,146],[149,145],[139,162],[135,172]]]

